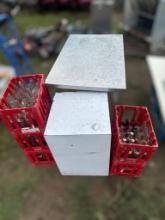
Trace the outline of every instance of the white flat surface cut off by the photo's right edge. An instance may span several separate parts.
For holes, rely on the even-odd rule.
[[[158,98],[162,119],[165,123],[165,57],[148,56],[147,62]]]

